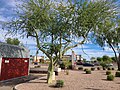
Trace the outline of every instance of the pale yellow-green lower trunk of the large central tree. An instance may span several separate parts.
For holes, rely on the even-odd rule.
[[[48,74],[47,74],[48,84],[52,83],[53,72],[54,72],[54,65],[53,65],[53,59],[52,59],[48,67]]]

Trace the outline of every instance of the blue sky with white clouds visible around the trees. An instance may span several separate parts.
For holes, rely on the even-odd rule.
[[[15,10],[16,10],[16,4],[21,4],[22,2],[20,0],[0,0],[0,23],[1,22],[7,22],[11,20],[12,18],[15,17]],[[6,32],[2,30],[0,26],[0,41],[5,41],[7,37],[13,37],[13,36],[5,36]],[[19,38],[19,40],[24,43],[29,49],[30,49],[30,54],[35,55],[36,51],[36,43],[34,39],[31,38],[20,38],[18,36],[14,36]],[[84,52],[87,54],[85,54]],[[82,55],[83,58],[86,58],[89,60],[91,57],[100,57],[103,55],[109,55],[109,56],[114,56],[113,52],[111,49],[108,47],[105,47],[105,50],[103,48],[99,47],[98,45],[94,45],[92,43],[87,43],[85,45],[76,47],[73,49],[76,54]],[[66,54],[71,54],[71,50],[69,50]],[[39,55],[43,55],[42,52],[39,53]]]

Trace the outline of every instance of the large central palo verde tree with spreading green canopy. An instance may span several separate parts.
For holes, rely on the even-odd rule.
[[[12,34],[36,39],[38,50],[50,60],[48,83],[52,83],[54,67],[65,52],[83,44],[113,12],[105,0],[29,0],[19,9],[17,19],[5,28]]]

